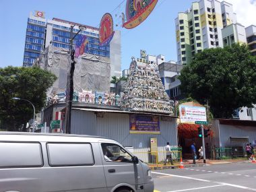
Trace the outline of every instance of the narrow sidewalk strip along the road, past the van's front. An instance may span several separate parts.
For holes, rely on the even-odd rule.
[[[230,164],[230,163],[238,163],[238,162],[251,162],[251,160],[247,160],[245,158],[238,158],[238,159],[225,159],[225,160],[206,160],[206,163],[203,163],[203,160],[196,160],[195,164],[193,164],[193,160],[184,160],[183,166],[184,167],[195,167],[195,166],[209,166],[212,164]],[[168,169],[168,168],[179,168],[179,164],[148,164],[151,170],[160,170],[160,169]]]

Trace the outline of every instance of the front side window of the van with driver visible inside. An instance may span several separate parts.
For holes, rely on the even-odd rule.
[[[102,143],[104,159],[108,162],[132,162],[132,157],[123,148],[113,143]]]

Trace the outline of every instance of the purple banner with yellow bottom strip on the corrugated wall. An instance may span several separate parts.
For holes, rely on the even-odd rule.
[[[160,134],[159,117],[155,115],[130,115],[130,133]]]

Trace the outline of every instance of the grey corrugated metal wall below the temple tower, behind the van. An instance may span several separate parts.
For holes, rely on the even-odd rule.
[[[158,160],[164,160],[164,147],[166,142],[170,146],[177,146],[177,123],[172,121],[162,121],[160,118],[160,135],[155,134],[130,134],[129,114],[104,113],[103,117],[97,117],[94,112],[85,110],[73,110],[71,133],[99,135],[115,139],[123,146],[132,146],[134,154],[148,162],[148,152],[150,152],[150,138],[158,140]],[[74,125],[74,126],[73,126]]]

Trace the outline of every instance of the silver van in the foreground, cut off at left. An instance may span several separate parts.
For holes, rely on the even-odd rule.
[[[1,192],[154,191],[148,165],[117,141],[0,132]]]

